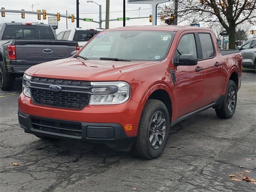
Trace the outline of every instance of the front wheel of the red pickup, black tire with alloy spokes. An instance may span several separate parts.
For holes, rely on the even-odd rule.
[[[134,143],[135,154],[145,159],[160,156],[166,146],[169,132],[170,116],[166,106],[160,100],[149,99],[140,119],[138,135]]]

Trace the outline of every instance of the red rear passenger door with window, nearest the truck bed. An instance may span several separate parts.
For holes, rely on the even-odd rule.
[[[222,91],[225,90],[225,74],[220,54],[216,50],[213,35],[210,32],[198,32],[202,59],[198,64],[204,68],[204,105],[218,100]]]

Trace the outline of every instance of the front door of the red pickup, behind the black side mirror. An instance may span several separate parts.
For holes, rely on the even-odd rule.
[[[198,57],[198,45],[194,32],[184,32],[179,37],[180,41],[176,48],[174,62],[182,54],[194,54]],[[174,92],[177,103],[177,117],[183,116],[203,107],[204,99],[204,70],[200,64],[196,66],[174,66],[176,74],[176,86]]]

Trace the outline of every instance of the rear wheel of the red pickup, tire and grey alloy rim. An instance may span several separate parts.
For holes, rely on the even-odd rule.
[[[215,109],[216,115],[221,119],[229,119],[236,110],[237,88],[234,81],[229,80],[224,101],[220,108]]]

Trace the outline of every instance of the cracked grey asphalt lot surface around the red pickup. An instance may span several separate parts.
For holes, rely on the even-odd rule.
[[[256,180],[256,74],[249,70],[242,76],[233,118],[220,120],[209,109],[176,124],[154,160],[25,134],[17,120],[18,79],[12,91],[0,91],[0,191],[256,191],[256,184],[229,177],[241,173]]]

